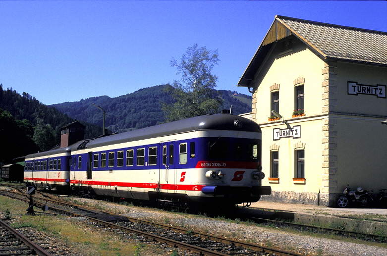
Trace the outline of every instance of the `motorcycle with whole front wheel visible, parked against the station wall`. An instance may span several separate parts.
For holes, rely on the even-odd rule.
[[[372,202],[372,198],[368,194],[368,191],[363,190],[360,187],[357,188],[357,191],[350,191],[350,188],[346,187],[343,194],[344,195],[339,197],[337,200],[337,205],[339,207],[349,207],[355,204],[359,204],[361,207],[366,207],[370,202]]]

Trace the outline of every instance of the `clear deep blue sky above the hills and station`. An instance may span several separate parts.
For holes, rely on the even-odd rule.
[[[44,104],[117,97],[179,80],[172,57],[219,51],[236,84],[274,21],[289,16],[387,32],[387,1],[0,1],[0,83]]]

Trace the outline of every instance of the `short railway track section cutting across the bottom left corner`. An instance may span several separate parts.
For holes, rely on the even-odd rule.
[[[0,255],[51,256],[37,244],[0,220]]]

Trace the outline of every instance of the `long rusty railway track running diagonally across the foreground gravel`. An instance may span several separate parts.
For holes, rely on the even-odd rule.
[[[7,191],[7,193],[0,191],[0,193],[18,200],[29,202],[28,199],[23,198],[23,195],[20,195],[19,193],[14,193],[14,195],[10,195],[11,193],[9,191]],[[116,232],[119,231],[126,234],[136,234],[147,240],[165,243],[172,247],[178,247],[182,250],[194,252],[200,256],[302,256],[302,254],[299,253],[277,250],[235,239],[204,234],[161,223],[153,223],[146,220],[127,218],[125,221],[111,221],[112,218],[108,217],[110,213],[106,211],[93,210],[89,207],[80,205],[74,206],[74,204],[59,202],[57,200],[43,199],[43,201],[46,200],[50,201],[52,204],[60,204],[55,207],[50,205],[49,209],[60,211],[62,214],[86,217],[88,221],[93,223],[93,226],[99,228],[108,227]],[[34,203],[38,207],[45,204],[43,202],[39,203],[38,201],[39,199],[34,199]],[[59,206],[60,208],[58,208]],[[83,211],[83,213],[81,214],[79,210]],[[109,221],[106,221],[103,218],[108,218]]]

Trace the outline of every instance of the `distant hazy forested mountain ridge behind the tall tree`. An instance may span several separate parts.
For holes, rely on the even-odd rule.
[[[100,96],[79,102],[54,104],[56,109],[79,121],[97,124],[102,127],[103,113],[93,103],[106,110],[106,127],[112,132],[140,129],[165,122],[161,103],[172,103],[173,99],[165,92],[165,85],[140,89],[136,92],[110,98]],[[223,105],[221,109],[230,109],[234,114],[251,112],[252,97],[232,91],[217,90]]]

